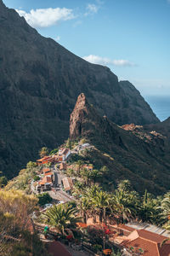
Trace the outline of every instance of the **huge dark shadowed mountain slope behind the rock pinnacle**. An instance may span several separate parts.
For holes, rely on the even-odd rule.
[[[129,82],[43,38],[0,0],[0,170],[14,176],[42,146],[69,134],[77,96],[118,125],[159,122]]]

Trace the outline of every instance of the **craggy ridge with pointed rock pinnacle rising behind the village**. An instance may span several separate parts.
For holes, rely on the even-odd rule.
[[[95,149],[88,154],[94,165],[107,166],[105,187],[129,179],[134,189],[148,189],[159,195],[169,189],[170,143],[156,131],[144,131],[142,125],[114,124],[100,117],[84,94],[78,96],[71,113],[70,137],[85,138]]]

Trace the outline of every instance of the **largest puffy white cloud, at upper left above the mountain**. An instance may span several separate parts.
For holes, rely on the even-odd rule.
[[[66,8],[48,8],[31,9],[30,13],[24,10],[16,9],[20,16],[25,17],[26,21],[33,27],[48,27],[57,24],[59,21],[75,19],[72,9]]]

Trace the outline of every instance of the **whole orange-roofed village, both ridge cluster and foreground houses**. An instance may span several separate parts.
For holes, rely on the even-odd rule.
[[[58,154],[45,155],[37,160],[37,165],[41,167],[41,172],[38,181],[31,182],[32,193],[43,194],[48,193],[53,199],[53,202],[46,204],[42,212],[48,211],[53,205],[59,205],[75,201],[79,202],[79,197],[75,196],[75,180],[74,176],[67,176],[67,171],[71,170],[72,166],[70,159],[72,154],[82,154],[84,150],[93,148],[89,143],[82,143],[77,147],[59,148]],[[93,172],[93,165],[84,164],[81,168]],[[81,202],[81,204],[83,201]],[[82,211],[82,210],[81,210]],[[87,233],[92,236],[99,236],[102,241],[103,251],[100,253],[100,247],[90,245],[87,241],[73,241],[73,233],[70,231],[67,237],[69,241],[65,247],[62,244],[53,242],[51,252],[60,250],[63,255],[85,256],[85,255],[133,255],[133,256],[168,256],[170,253],[170,243],[161,247],[164,240],[168,240],[170,231],[162,229],[159,226],[147,222],[142,223],[138,219],[130,219],[128,222],[121,224],[111,217],[100,219],[99,214],[94,213],[88,216],[84,221],[77,222],[77,230],[81,230],[83,236]],[[116,217],[115,217],[116,218]],[[118,216],[117,216],[118,218]],[[44,225],[45,226],[45,225]],[[47,225],[46,225],[47,226]],[[50,236],[53,234],[53,229],[48,229]],[[102,235],[101,235],[102,234]],[[47,236],[48,237],[48,236]],[[70,238],[69,238],[70,237]],[[77,240],[77,239],[76,239]],[[69,245],[69,246],[68,246]],[[55,248],[55,249],[54,249]],[[114,254],[113,248],[119,250],[120,254]],[[53,254],[55,255],[55,254]],[[56,254],[58,255],[58,254]]]

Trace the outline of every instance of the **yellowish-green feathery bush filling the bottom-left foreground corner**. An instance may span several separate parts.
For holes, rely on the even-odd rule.
[[[28,228],[31,227],[31,213],[36,206],[34,195],[26,195],[20,190],[0,190],[0,255],[28,255],[28,251],[34,252],[36,244],[33,245],[34,238]],[[31,243],[25,236],[26,232],[32,237]]]

